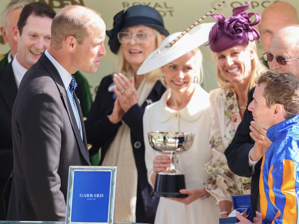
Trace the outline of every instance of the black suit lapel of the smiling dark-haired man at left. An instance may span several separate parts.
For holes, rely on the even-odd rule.
[[[11,63],[2,68],[0,80],[0,92],[11,113],[13,110],[13,103],[15,102],[18,93]]]

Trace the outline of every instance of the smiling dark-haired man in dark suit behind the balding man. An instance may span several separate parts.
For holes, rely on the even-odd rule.
[[[17,7],[19,4],[10,6]],[[15,10],[22,10],[22,8]],[[18,18],[20,13],[21,11]],[[13,170],[11,135],[13,103],[24,74],[50,45],[51,23],[55,14],[54,10],[46,4],[31,3],[22,11],[19,22],[16,22],[17,26],[10,27],[11,38],[19,44],[14,52],[16,57],[0,70],[0,220],[5,220],[2,191]]]

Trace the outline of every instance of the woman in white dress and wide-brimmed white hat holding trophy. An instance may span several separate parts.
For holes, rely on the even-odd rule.
[[[158,102],[147,106],[143,117],[145,162],[148,181],[152,186],[156,174],[165,171],[171,160],[152,149],[147,133],[168,131],[195,134],[192,147],[177,155],[186,182],[186,189],[181,189],[180,193],[188,194],[188,197],[161,197],[155,223],[218,223],[219,209],[215,200],[201,200],[207,194],[204,181],[209,178],[205,163],[212,158],[212,154],[209,147],[209,94],[198,84],[202,77],[202,55],[198,47],[208,40],[212,25],[201,24],[193,28],[170,48],[165,46],[180,33],[166,37],[161,47],[149,55],[137,72],[144,74],[161,67],[162,83],[168,88]]]

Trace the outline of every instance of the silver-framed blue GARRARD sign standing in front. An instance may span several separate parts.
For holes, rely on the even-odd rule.
[[[66,224],[112,224],[116,167],[70,166]]]

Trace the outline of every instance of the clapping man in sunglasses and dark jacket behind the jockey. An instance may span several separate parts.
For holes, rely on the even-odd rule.
[[[270,70],[289,72],[299,77],[299,25],[282,28],[272,39],[269,52],[264,53]],[[248,104],[253,99],[254,88],[248,93]],[[251,194],[254,194],[260,211],[260,167],[265,151],[271,145],[266,129],[256,127],[252,113],[246,109],[236,134],[225,150],[228,166],[235,174],[251,177]]]

